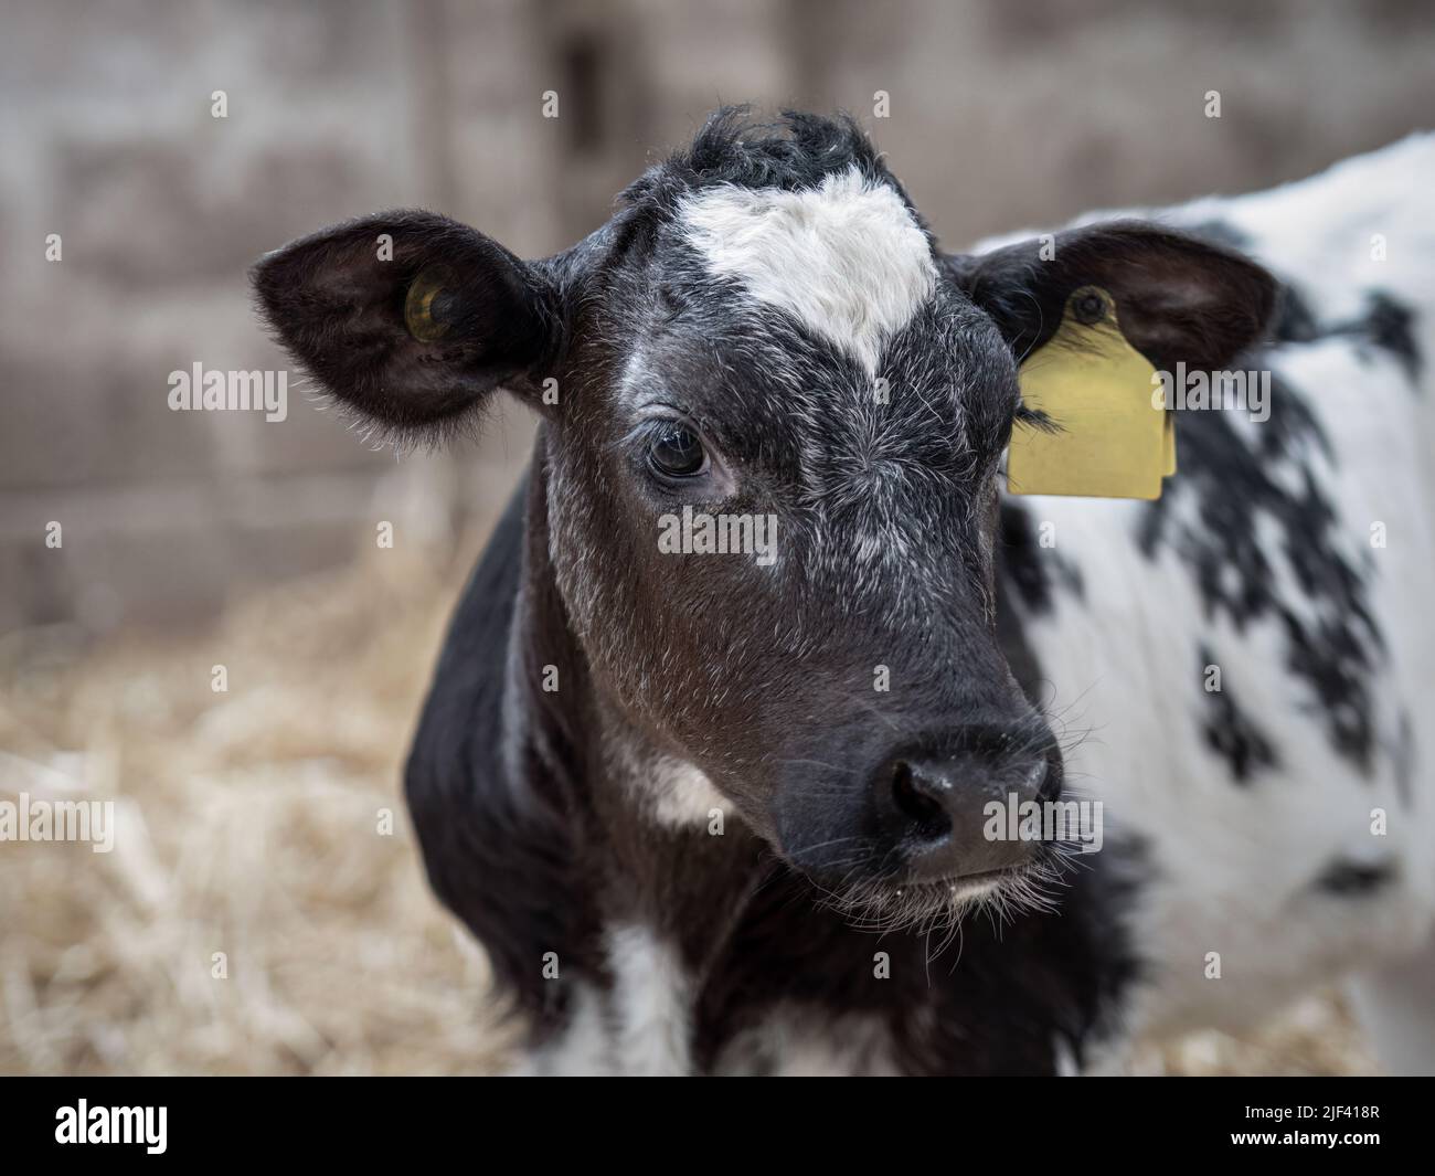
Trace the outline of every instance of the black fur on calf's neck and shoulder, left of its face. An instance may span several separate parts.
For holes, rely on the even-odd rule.
[[[544,982],[544,953],[588,974],[601,971],[601,956],[593,892],[581,885],[585,794],[570,724],[530,675],[544,652],[537,639],[564,620],[550,612],[551,593],[525,580],[527,503],[519,485],[464,590],[405,781],[429,882],[488,949],[501,991],[542,1032],[563,1017],[567,992]],[[519,616],[535,643],[511,666]],[[567,659],[563,671],[581,672]],[[531,714],[527,732],[505,729],[505,706]]]

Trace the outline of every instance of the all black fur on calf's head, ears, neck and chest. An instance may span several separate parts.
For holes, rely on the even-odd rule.
[[[406,775],[433,887],[537,1041],[567,1024],[580,985],[601,997],[621,982],[607,939],[624,926],[680,953],[697,1068],[795,1004],[819,1027],[872,1014],[914,1073],[1050,1073],[1111,1028],[1138,972],[1129,846],[1108,837],[1081,859],[1059,912],[969,919],[960,951],[941,952],[943,932],[921,928],[950,912],[946,882],[963,872],[918,873],[910,830],[878,808],[894,757],[960,762],[954,791],[973,798],[1033,761],[1042,795],[1060,783],[1040,668],[1009,607],[1049,607],[1053,573],[1020,514],[992,554],[1016,356],[1095,283],[1154,359],[1214,365],[1258,333],[1271,283],[1151,225],[1065,234],[1050,264],[1022,247],[943,257],[921,227],[940,280],[887,340],[895,395],[878,409],[851,356],[713,280],[673,223],[709,185],[799,190],[850,167],[905,201],[850,119],[758,126],[723,111],[557,257],[519,261],[442,218],[389,214],[257,269],[280,337],[357,412],[441,431],[502,382],[547,416],[455,615]],[[393,263],[372,260],[380,231],[395,233]],[[436,266],[453,293],[425,342],[405,300]],[[557,403],[532,395],[547,378]],[[742,477],[656,480],[654,408]],[[782,560],[660,554],[654,524],[684,505],[779,517]],[[1081,592],[1069,574],[1065,587]],[[740,820],[720,837],[653,821],[651,781],[636,775],[664,757],[700,770]],[[860,930],[829,906],[854,879],[864,902],[907,887],[934,918]],[[877,951],[890,979],[872,972]]]

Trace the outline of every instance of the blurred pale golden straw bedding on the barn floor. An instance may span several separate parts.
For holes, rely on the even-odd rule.
[[[0,1073],[502,1063],[512,1030],[482,952],[426,889],[397,783],[465,571],[373,551],[199,633],[0,639],[0,800],[105,798],[116,813],[112,853],[0,844]],[[211,689],[215,665],[227,692]],[[1333,998],[1139,1064],[1372,1068]]]

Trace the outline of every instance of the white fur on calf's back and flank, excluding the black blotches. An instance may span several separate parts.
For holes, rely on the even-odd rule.
[[[1250,250],[1294,277],[1322,322],[1362,312],[1385,290],[1416,312],[1416,345],[1435,355],[1428,280],[1435,225],[1413,192],[1435,187],[1435,136],[1411,139],[1273,192],[1201,201],[1167,215],[1177,224],[1221,220],[1250,234]],[[1389,241],[1389,260],[1369,258],[1370,237]],[[1071,757],[1075,775],[1147,841],[1155,879],[1144,889],[1138,941],[1155,958],[1154,984],[1134,1024],[1154,1032],[1236,1027],[1271,1012],[1312,985],[1416,951],[1435,918],[1435,774],[1428,727],[1435,698],[1435,626],[1429,616],[1435,531],[1429,472],[1435,382],[1415,391],[1393,358],[1356,353],[1333,337],[1277,350],[1276,370],[1306,398],[1335,447],[1316,464],[1339,511],[1339,546],[1373,561],[1370,606],[1389,658],[1378,671],[1373,714],[1382,747],[1399,709],[1415,727],[1413,807],[1396,788],[1396,765],[1376,754],[1363,778],[1330,748],[1320,708],[1286,668],[1273,617],[1237,630],[1210,619],[1190,570],[1168,547],[1155,563],[1138,550],[1144,507],[1081,498],[1029,498],[1038,521],[1056,524],[1056,551],[1079,570],[1085,599],[1058,597],[1033,617],[1029,638],[1053,683],[1053,709],[1092,729]],[[1279,396],[1280,392],[1277,391]],[[1279,411],[1279,405],[1277,409]],[[1261,425],[1243,429],[1246,441]],[[1180,424],[1178,424],[1180,441]],[[1293,468],[1269,471],[1292,484]],[[1178,475],[1180,477],[1180,475]],[[1184,495],[1184,511],[1200,503]],[[1171,520],[1175,523],[1177,520]],[[1386,549],[1369,527],[1383,521]],[[1325,605],[1300,589],[1279,530],[1258,530],[1274,590],[1297,615]],[[1217,650],[1223,688],[1271,737],[1280,765],[1247,785],[1204,742],[1198,645]],[[1370,810],[1389,814],[1389,834],[1370,834]],[[1335,896],[1313,886],[1333,860],[1393,863],[1398,879],[1369,896]],[[1207,979],[1207,952],[1220,952],[1221,979]],[[1435,1001],[1426,999],[1426,1017]],[[1435,1040],[1435,1034],[1429,1035]],[[1435,1058],[1426,1060],[1428,1063]]]

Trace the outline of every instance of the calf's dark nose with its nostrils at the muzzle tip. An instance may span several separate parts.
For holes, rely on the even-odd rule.
[[[910,879],[961,877],[1033,857],[1035,843],[1010,837],[1004,814],[1010,804],[1055,800],[1060,761],[1052,747],[1032,747],[1029,731],[964,728],[941,741],[940,752],[888,758],[872,788],[878,824]]]

